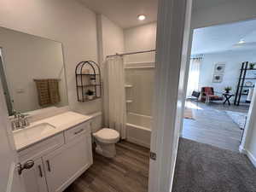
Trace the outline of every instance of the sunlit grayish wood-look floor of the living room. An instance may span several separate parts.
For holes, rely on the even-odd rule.
[[[192,104],[191,104],[192,103]],[[242,131],[225,111],[247,113],[248,106],[223,105],[210,103],[190,102],[193,108],[194,119],[183,120],[183,137],[199,143],[207,143],[218,148],[238,151]]]

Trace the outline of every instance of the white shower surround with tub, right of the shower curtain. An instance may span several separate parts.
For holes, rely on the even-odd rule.
[[[135,56],[135,55],[133,55]],[[126,135],[131,143],[150,147],[154,62],[126,62],[125,83],[127,103]]]

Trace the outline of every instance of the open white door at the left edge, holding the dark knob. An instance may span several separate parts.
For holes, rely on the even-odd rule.
[[[18,154],[9,122],[8,110],[0,82],[0,191],[25,192],[22,175],[17,172]]]

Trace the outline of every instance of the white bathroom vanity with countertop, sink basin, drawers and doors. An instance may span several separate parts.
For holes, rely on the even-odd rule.
[[[61,192],[92,165],[90,116],[67,111],[14,131],[26,192]]]

